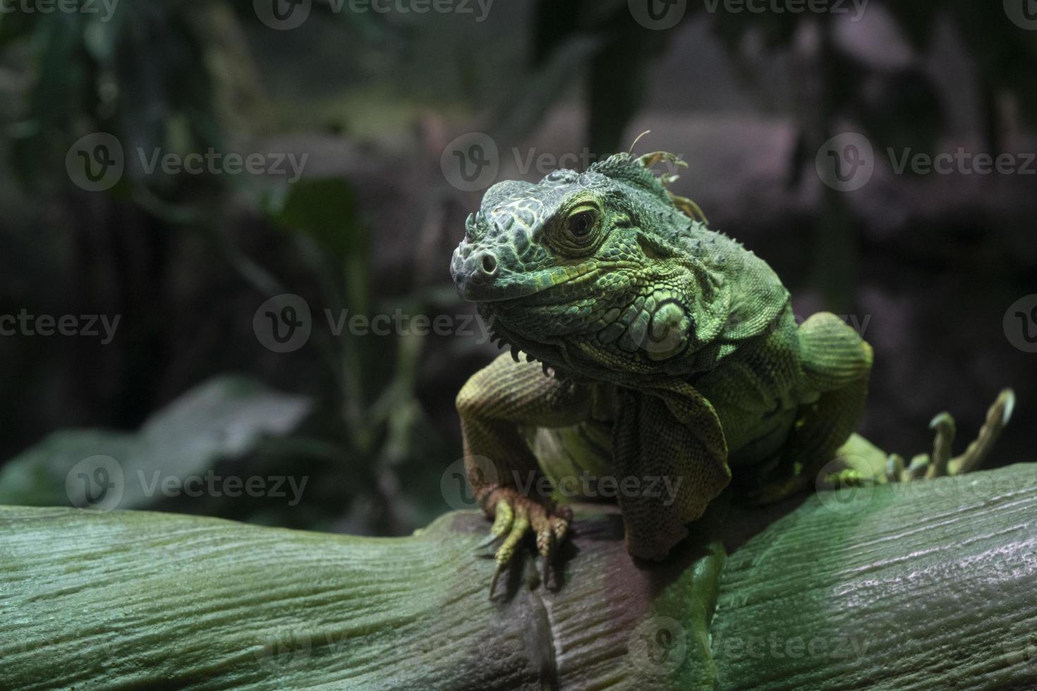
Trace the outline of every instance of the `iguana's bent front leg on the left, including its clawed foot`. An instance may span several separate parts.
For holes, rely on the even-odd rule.
[[[521,428],[576,425],[589,415],[591,398],[589,385],[549,377],[540,365],[517,363],[507,354],[476,372],[457,395],[466,474],[479,506],[495,519],[492,535],[504,537],[496,553],[491,597],[530,528],[536,534],[546,580],[551,556],[571,519],[571,512],[545,493],[529,496],[542,487],[542,473]],[[487,460],[488,479],[479,466]]]

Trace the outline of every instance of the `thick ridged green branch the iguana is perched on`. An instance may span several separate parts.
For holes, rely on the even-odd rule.
[[[746,516],[714,525],[730,538]],[[726,566],[717,543],[632,560],[611,508],[573,525],[557,589],[527,558],[489,600],[472,513],[372,539],[0,508],[0,687],[1024,688],[1037,672],[1033,465],[815,496]]]

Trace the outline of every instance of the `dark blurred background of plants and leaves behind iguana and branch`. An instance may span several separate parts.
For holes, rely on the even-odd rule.
[[[481,196],[450,169],[467,133],[496,147],[495,181],[550,172],[550,159],[526,169],[530,156],[593,160],[650,129],[637,150],[689,162],[673,189],[775,267],[798,315],[864,326],[869,438],[928,451],[927,424],[948,409],[960,451],[1012,385],[991,464],[1033,460],[1037,354],[1006,321],[1037,292],[1037,7],[1025,2],[872,0],[857,15],[699,0],[670,5],[680,21],[667,29],[625,0],[497,0],[484,17],[460,0],[425,13],[313,2],[291,29],[264,24],[262,2],[16,6],[0,15],[0,315],[120,321],[107,344],[0,337],[0,459],[12,459],[0,500],[76,503],[69,468],[107,455],[127,483],[136,468],[309,479],[296,506],[181,494],[123,508],[398,535],[455,506],[441,489],[460,457],[453,397],[496,350],[478,330],[336,338],[323,311],[447,315],[458,330],[472,311],[447,266]],[[73,155],[91,133],[125,161],[99,192],[77,184]],[[860,133],[874,165],[847,192],[815,166],[842,133]],[[293,182],[131,165],[138,149],[209,147],[308,159]],[[1022,170],[897,173],[888,147],[1010,152]],[[309,340],[283,353],[254,328],[282,293],[312,315]]]

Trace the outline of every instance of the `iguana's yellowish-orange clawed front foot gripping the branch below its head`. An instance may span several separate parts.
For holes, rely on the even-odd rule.
[[[536,549],[543,557],[543,582],[548,582],[551,558],[555,549],[565,539],[572,512],[568,507],[558,507],[551,499],[531,499],[513,487],[497,487],[485,494],[483,508],[494,517],[489,528],[489,542],[504,538],[497,549],[497,569],[489,581],[489,597],[494,597],[497,580],[514,556],[515,548],[530,529],[536,536]]]

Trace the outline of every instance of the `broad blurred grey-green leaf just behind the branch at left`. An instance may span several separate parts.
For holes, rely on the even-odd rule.
[[[264,435],[290,433],[309,413],[310,399],[290,396],[241,376],[222,376],[195,386],[152,414],[137,433],[64,430],[12,459],[0,470],[0,502],[67,506],[74,466],[95,456],[114,459],[121,471],[122,509],[147,507],[163,498],[153,479],[180,483],[240,456]],[[89,476],[95,467],[87,468]],[[109,464],[110,482],[116,482]],[[79,502],[76,502],[79,503]],[[109,507],[114,508],[114,507]]]

